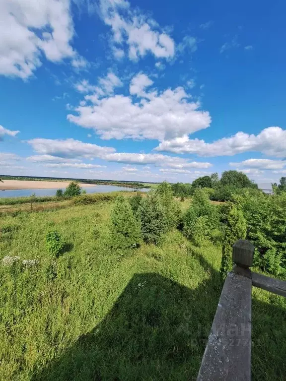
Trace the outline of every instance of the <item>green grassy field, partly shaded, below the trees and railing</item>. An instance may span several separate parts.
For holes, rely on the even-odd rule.
[[[197,249],[172,231],[159,247],[113,252],[111,208],[1,217],[1,258],[20,259],[0,264],[0,380],[196,380],[220,295],[221,249]],[[67,243],[59,258],[45,248],[53,229]],[[253,380],[285,380],[285,300],[255,289],[252,321]]]

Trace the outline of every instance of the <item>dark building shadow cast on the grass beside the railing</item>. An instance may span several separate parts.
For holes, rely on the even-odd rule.
[[[109,314],[31,381],[196,380],[220,295],[218,272],[196,257],[210,274],[197,289],[156,273],[135,274]],[[278,307],[270,307],[270,315],[282,316]],[[255,329],[259,338],[261,327]],[[271,337],[267,340],[264,345]],[[271,364],[265,351],[264,361],[276,367],[283,364],[280,357]],[[253,380],[270,380],[266,376],[260,372]]]

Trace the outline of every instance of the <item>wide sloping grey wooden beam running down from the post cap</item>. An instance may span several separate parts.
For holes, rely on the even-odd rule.
[[[251,279],[228,273],[197,381],[251,380]]]

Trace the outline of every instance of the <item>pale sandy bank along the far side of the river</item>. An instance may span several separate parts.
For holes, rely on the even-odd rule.
[[[67,188],[66,181],[26,181],[26,180],[2,180],[0,190],[13,189],[60,189]],[[96,184],[79,184],[80,187],[94,187]]]

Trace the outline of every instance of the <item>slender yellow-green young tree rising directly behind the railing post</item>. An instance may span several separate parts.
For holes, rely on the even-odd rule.
[[[241,210],[229,202],[226,210],[225,232],[222,244],[222,257],[220,264],[220,276],[224,281],[228,271],[232,268],[232,245],[239,239],[245,239],[246,220]]]

